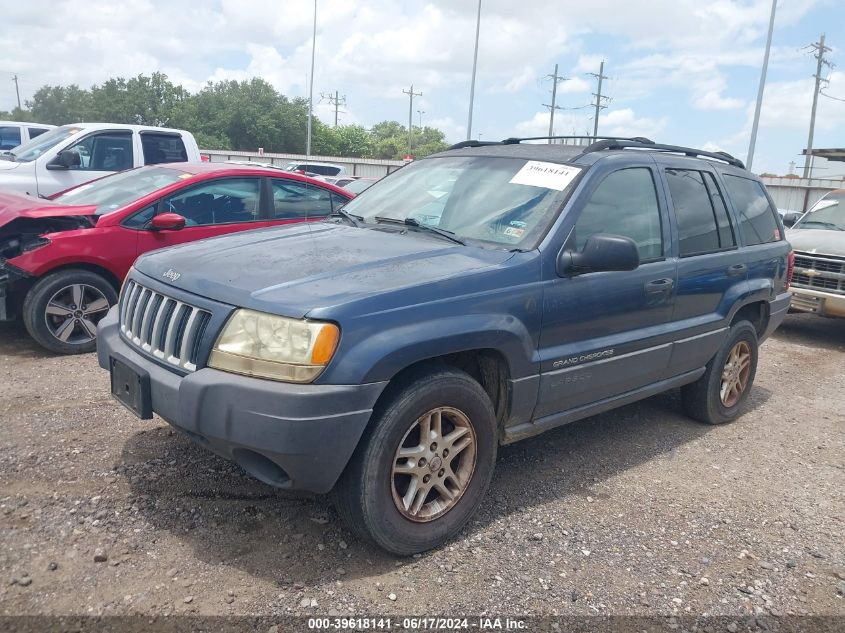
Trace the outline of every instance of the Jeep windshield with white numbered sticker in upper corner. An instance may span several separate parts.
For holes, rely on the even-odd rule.
[[[492,156],[428,158],[374,183],[344,210],[365,222],[411,220],[464,240],[534,248],[581,169]]]

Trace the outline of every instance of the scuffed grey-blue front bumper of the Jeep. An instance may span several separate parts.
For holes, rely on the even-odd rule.
[[[316,493],[340,477],[387,384],[297,385],[211,368],[180,376],[121,338],[116,308],[100,321],[97,357],[148,375],[152,410],[200,445],[265,483]]]

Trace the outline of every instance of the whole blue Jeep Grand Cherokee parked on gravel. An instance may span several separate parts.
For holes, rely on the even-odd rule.
[[[789,306],[763,185],[723,153],[459,143],[329,222],[140,258],[100,322],[113,394],[410,554],[482,502],[499,444],[680,387],[739,415]]]

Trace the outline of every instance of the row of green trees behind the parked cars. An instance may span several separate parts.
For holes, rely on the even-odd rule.
[[[153,73],[131,79],[114,77],[90,90],[43,86],[27,101],[29,111],[17,108],[2,116],[62,125],[78,121],[106,121],[175,127],[193,132],[200,147],[267,152],[305,152],[308,100],[289,99],[260,78],[209,82],[196,94]],[[325,156],[401,159],[408,149],[408,130],[397,121],[331,128],[315,118],[312,152]],[[447,147],[443,132],[413,128],[415,156]]]

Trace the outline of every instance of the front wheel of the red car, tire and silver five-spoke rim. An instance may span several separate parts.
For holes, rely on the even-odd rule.
[[[58,354],[97,347],[97,323],[117,303],[117,292],[89,270],[62,270],[40,279],[27,293],[23,321],[30,336]]]

